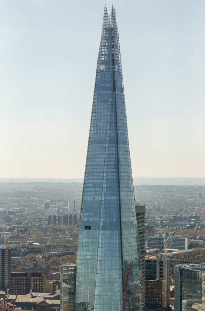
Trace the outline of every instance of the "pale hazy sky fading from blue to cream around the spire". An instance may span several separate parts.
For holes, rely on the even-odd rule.
[[[205,1],[113,4],[133,176],[204,177]],[[0,0],[0,177],[83,177],[104,5]]]

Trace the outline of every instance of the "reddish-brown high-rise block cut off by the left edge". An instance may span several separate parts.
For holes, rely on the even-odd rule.
[[[6,291],[9,288],[9,276],[11,274],[11,249],[0,245],[0,289]]]

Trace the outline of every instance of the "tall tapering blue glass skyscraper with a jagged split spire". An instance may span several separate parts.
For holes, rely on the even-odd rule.
[[[105,7],[83,184],[75,311],[140,309],[140,255],[115,8]]]

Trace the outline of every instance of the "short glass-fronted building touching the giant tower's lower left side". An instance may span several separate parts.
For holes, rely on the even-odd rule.
[[[75,310],[76,264],[64,264],[60,273],[60,311]]]

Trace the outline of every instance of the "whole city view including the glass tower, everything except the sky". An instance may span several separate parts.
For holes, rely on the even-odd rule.
[[[205,310],[204,180],[133,177],[127,123],[105,5],[84,179],[0,176],[0,311]]]

